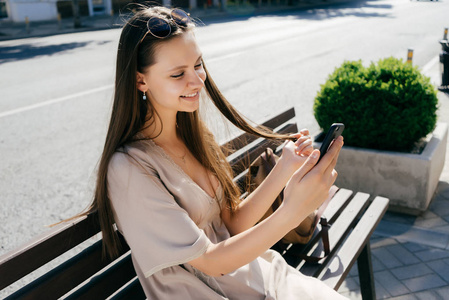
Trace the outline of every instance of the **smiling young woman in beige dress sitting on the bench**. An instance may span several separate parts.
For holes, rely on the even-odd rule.
[[[182,10],[143,8],[124,26],[115,97],[96,192],[106,252],[131,247],[149,299],[340,299],[269,248],[327,197],[343,140],[316,164],[308,131],[275,135],[250,126],[208,74]],[[238,128],[294,139],[260,187],[239,201],[225,155],[198,114],[206,97]],[[257,221],[276,195],[284,203]]]

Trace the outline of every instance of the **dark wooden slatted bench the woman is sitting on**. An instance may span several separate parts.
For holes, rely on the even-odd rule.
[[[294,109],[289,109],[264,123],[277,132],[297,132]],[[238,150],[228,158],[236,174],[235,180],[244,186],[246,166],[266,147],[278,148],[272,141],[242,134],[228,146]],[[278,149],[279,150],[279,149]],[[324,215],[330,224],[331,253],[318,263],[306,263],[294,253],[320,255],[319,230],[305,246],[294,245],[283,251],[289,264],[307,275],[315,276],[338,289],[357,261],[363,299],[375,299],[369,238],[384,215],[388,199],[364,193],[354,194],[340,189]],[[28,284],[19,282],[20,289],[6,299],[145,299],[132,266],[128,246],[113,261],[102,258],[100,226],[97,214],[61,224],[35,240],[0,257],[0,290],[32,273],[65,252],[79,247],[86,240],[97,237],[81,252],[65,259],[56,267]],[[126,243],[121,237],[124,245]],[[72,250],[73,252],[73,250]],[[67,254],[65,254],[66,256]]]

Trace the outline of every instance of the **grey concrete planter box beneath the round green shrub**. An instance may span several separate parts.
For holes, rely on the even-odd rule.
[[[344,146],[336,166],[336,185],[387,197],[390,210],[418,215],[428,208],[435,193],[444,166],[447,134],[448,125],[438,123],[421,154]]]

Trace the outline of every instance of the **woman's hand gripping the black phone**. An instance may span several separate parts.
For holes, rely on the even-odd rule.
[[[334,167],[342,146],[343,137],[339,137],[317,165],[320,151],[314,150],[287,183],[280,209],[285,209],[291,217],[292,227],[326,200],[330,187],[337,179]]]

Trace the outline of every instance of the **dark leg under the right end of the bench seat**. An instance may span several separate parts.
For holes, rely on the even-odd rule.
[[[357,268],[359,270],[360,291],[363,300],[375,300],[376,289],[374,287],[373,265],[371,263],[371,247],[369,241],[363,247],[362,252],[357,259]]]

